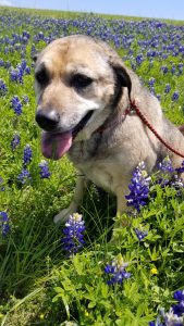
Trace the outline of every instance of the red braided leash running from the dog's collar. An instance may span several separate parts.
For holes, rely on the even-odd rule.
[[[143,123],[152,131],[152,134],[160,140],[161,143],[163,143],[171,152],[174,154],[181,156],[184,159],[184,154],[180,151],[176,151],[174,148],[172,148],[169,143],[167,143],[161,136],[155,130],[155,128],[150,125],[150,123],[147,121],[147,118],[144,116],[144,114],[139,111],[137,105],[135,104],[135,101],[131,101],[131,108],[135,110],[139,118],[143,121]]]

